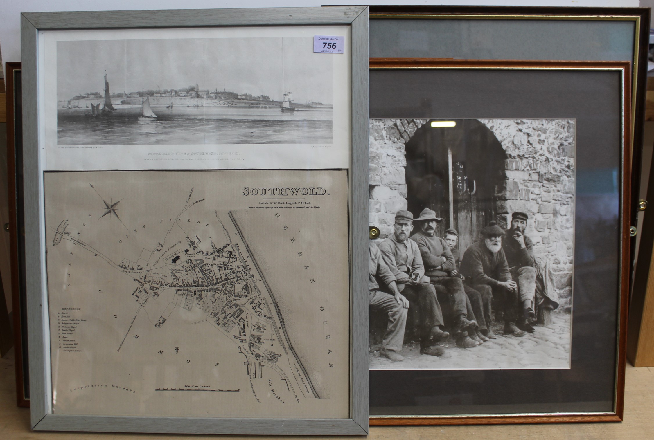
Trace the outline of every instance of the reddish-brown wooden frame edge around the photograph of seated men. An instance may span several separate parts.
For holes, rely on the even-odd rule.
[[[570,415],[475,415],[475,416],[370,416],[370,426],[400,425],[473,425],[527,424],[562,422],[621,422],[625,408],[625,369],[627,367],[627,318],[630,286],[631,237],[631,63],[629,61],[523,61],[513,59],[443,59],[443,58],[370,58],[371,69],[621,69],[623,77],[623,144],[621,180],[621,259],[619,317],[617,321],[617,356],[615,364],[615,400],[612,414]],[[654,182],[651,179],[650,182]],[[649,262],[649,260],[648,260]]]

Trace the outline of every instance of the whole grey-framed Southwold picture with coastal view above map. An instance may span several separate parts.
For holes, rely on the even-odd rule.
[[[32,428],[365,435],[367,8],[22,41]]]

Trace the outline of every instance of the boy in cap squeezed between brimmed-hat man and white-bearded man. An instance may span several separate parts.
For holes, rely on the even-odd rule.
[[[452,252],[456,264],[456,269],[449,273],[450,277],[465,279],[463,275],[460,274],[461,254],[456,247],[456,244],[458,243],[458,233],[456,232],[456,229],[445,229],[443,240],[445,240],[445,244],[450,252]],[[489,339],[496,339],[490,328],[490,322],[492,320],[492,294],[489,294],[488,292],[484,292],[483,294],[477,292],[477,290],[468,286],[466,282],[463,283],[463,289],[468,296],[468,319],[477,321],[477,330],[468,331],[468,335],[479,343],[485,343]]]

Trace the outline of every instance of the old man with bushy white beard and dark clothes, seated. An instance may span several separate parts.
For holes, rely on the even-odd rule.
[[[481,236],[482,240],[473,243],[464,252],[461,273],[466,277],[468,285],[477,292],[490,296],[497,294],[500,297],[503,303],[504,334],[523,336],[525,331],[515,325],[518,286],[511,278],[502,250],[504,229],[493,221],[481,229]]]

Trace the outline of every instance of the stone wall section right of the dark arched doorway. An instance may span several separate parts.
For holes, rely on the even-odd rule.
[[[574,120],[480,120],[506,152],[506,179],[496,189],[498,223],[529,216],[526,233],[546,256],[562,305],[572,294],[574,243]]]

